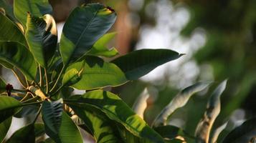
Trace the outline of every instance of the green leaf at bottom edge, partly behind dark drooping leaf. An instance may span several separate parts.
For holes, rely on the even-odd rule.
[[[45,131],[56,143],[82,143],[79,129],[66,112],[62,112],[59,132],[54,133],[48,128],[45,128]]]

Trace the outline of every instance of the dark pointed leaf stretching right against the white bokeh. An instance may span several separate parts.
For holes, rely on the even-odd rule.
[[[119,56],[112,62],[122,69],[127,79],[134,80],[182,55],[169,49],[141,49]]]

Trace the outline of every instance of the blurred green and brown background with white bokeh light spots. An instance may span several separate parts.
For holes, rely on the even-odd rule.
[[[118,19],[110,43],[120,55],[136,49],[172,49],[186,54],[113,92],[132,107],[148,87],[151,97],[145,120],[148,124],[185,87],[214,81],[209,89],[178,109],[169,124],[194,134],[213,89],[228,79],[222,94],[222,111],[214,124],[229,121],[227,131],[256,114],[256,1],[255,0],[49,0],[58,33],[70,11],[83,3],[111,6]],[[9,1],[11,4],[12,1]],[[6,74],[2,69],[2,74]],[[8,73],[7,73],[8,74]],[[7,77],[11,78],[11,75]],[[8,80],[8,79],[7,79]],[[18,85],[14,85],[18,86]],[[224,136],[225,132],[221,135]]]

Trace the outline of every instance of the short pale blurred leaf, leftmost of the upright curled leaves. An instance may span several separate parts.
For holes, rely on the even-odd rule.
[[[145,88],[141,95],[136,99],[136,102],[133,104],[133,111],[138,114],[143,119],[145,109],[147,107],[147,99],[149,98],[148,89]]]

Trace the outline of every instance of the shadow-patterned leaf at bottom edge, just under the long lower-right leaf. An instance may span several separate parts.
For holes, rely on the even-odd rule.
[[[108,119],[99,109],[90,107],[87,104],[85,106],[79,106],[79,104],[78,106],[70,105],[70,107],[85,122],[85,126],[93,133],[96,142],[120,142],[120,137],[116,134],[116,127],[113,125],[113,121]]]

